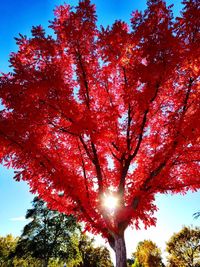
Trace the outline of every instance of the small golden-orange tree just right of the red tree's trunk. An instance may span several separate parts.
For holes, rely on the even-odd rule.
[[[139,242],[136,252],[133,254],[137,259],[135,266],[141,267],[162,267],[161,250],[151,240]]]

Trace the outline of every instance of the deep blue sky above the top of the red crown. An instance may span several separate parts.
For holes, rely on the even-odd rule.
[[[77,0],[65,1],[76,5]],[[174,2],[174,14],[177,15],[181,4]],[[52,10],[56,5],[63,4],[64,0],[2,0],[0,5],[0,71],[8,70],[8,55],[16,50],[14,37],[19,33],[29,35],[33,25],[43,25],[46,29],[48,21],[53,18]],[[94,0],[98,14],[98,25],[108,25],[116,19],[129,22],[133,10],[143,10],[146,0]]]

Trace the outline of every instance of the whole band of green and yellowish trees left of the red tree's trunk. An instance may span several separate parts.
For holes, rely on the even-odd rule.
[[[1,267],[112,267],[110,253],[81,234],[73,216],[49,210],[37,197],[26,214],[31,221],[19,238],[0,237]]]

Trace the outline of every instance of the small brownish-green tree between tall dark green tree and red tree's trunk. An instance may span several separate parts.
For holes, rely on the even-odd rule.
[[[82,262],[79,267],[112,267],[109,250],[104,246],[94,246],[94,239],[83,234],[79,241]]]

